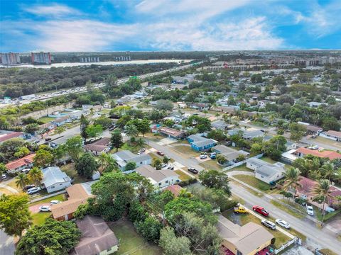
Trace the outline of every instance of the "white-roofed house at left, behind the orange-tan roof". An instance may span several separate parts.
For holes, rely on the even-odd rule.
[[[43,180],[40,183],[43,184],[48,193],[60,191],[71,186],[71,178],[61,171],[58,166],[46,167],[42,172]]]

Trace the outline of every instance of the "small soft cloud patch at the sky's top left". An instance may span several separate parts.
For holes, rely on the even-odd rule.
[[[24,10],[36,16],[61,17],[66,15],[75,16],[80,14],[80,11],[77,11],[75,8],[70,8],[69,6],[65,6],[62,4],[50,4],[49,6],[43,5],[26,6]]]

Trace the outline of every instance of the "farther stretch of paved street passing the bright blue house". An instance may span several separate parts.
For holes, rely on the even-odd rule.
[[[175,162],[179,162],[180,164],[186,166],[186,167],[194,167],[197,169],[197,171],[202,171],[204,168],[199,165],[199,162],[197,162],[197,159],[186,159],[178,152],[175,152],[169,145],[159,145],[157,142],[153,142],[150,140],[146,140],[147,145],[153,147],[154,149],[157,149],[160,152],[163,152],[168,157],[171,157],[175,160]]]

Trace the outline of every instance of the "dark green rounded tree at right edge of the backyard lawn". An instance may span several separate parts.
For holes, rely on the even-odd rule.
[[[160,239],[160,231],[162,229],[161,222],[155,217],[148,216],[146,220],[141,222],[136,222],[135,227],[137,232],[141,234],[147,242],[158,243]]]

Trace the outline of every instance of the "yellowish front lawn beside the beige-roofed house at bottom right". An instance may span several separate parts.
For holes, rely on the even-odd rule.
[[[224,217],[231,220],[232,222],[242,225],[242,226],[244,226],[248,222],[254,222],[256,224],[261,225],[261,220],[258,217],[251,215],[251,213],[234,215],[233,210],[227,210],[227,211],[222,212],[222,215],[224,215]],[[274,244],[276,249],[278,249],[279,247],[282,246],[282,244],[285,244],[286,242],[288,242],[288,240],[290,240],[288,236],[286,236],[282,232],[279,232],[278,230],[272,230],[267,227],[266,227],[266,230],[268,230],[276,238],[276,242]]]

